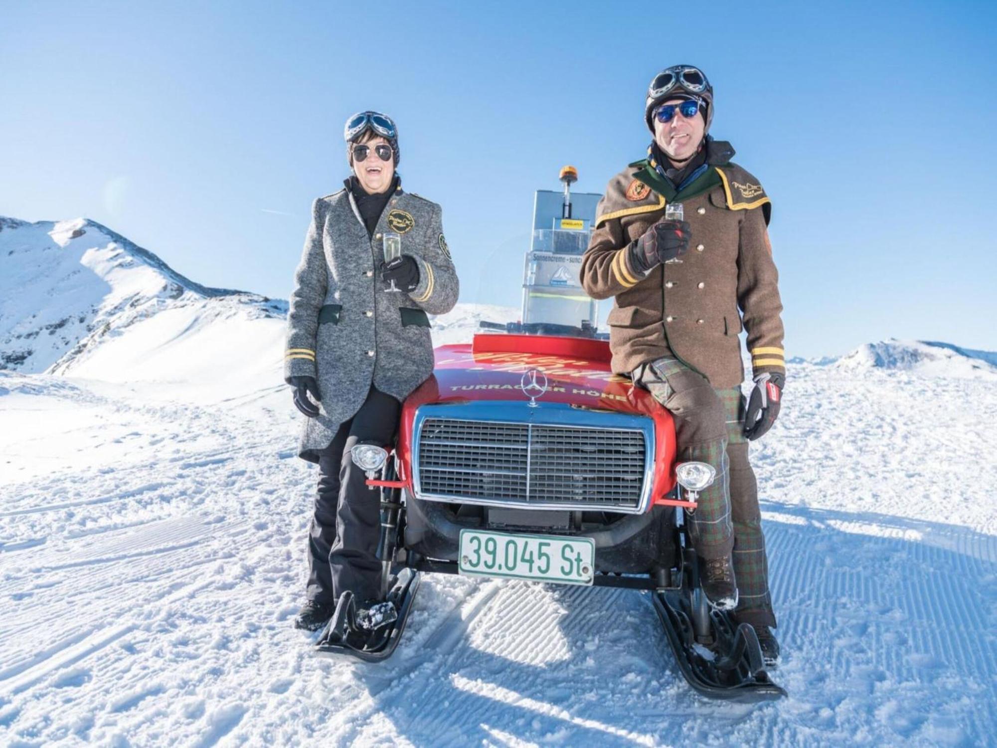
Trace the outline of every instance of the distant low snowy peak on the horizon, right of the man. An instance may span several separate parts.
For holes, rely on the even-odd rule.
[[[866,343],[842,356],[834,366],[851,372],[888,369],[922,376],[997,381],[997,353],[927,340],[890,338]]]

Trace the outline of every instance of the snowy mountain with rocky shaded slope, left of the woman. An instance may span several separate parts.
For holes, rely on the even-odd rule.
[[[148,351],[148,339],[129,333],[148,334],[151,320],[164,343],[172,326],[189,336],[208,323],[276,321],[286,308],[195,283],[94,220],[0,216],[0,369],[89,376],[88,360],[126,336],[134,353]]]

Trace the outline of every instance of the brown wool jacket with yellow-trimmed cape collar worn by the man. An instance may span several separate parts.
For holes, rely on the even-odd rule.
[[[709,153],[707,170],[679,192],[648,161],[635,162],[610,180],[596,208],[581,283],[593,298],[614,297],[609,345],[618,374],[671,352],[714,387],[738,386],[742,324],[754,375],[786,373],[767,229],[771,201],[758,180],[730,163],[729,144],[711,141]],[[645,277],[630,265],[627,246],[664,215],[668,201],[684,206],[689,251]]]

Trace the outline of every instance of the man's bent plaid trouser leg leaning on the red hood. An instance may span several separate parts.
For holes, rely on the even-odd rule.
[[[671,412],[679,459],[707,463],[717,471],[713,484],[700,492],[696,511],[686,515],[686,523],[699,556],[723,559],[734,548],[734,526],[727,417],[718,392],[702,374],[674,356],[641,364],[633,372],[633,381]]]

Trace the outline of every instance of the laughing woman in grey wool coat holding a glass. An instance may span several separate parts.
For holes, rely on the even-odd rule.
[[[309,416],[298,455],[319,466],[307,601],[295,619],[309,630],[332,617],[346,590],[361,610],[379,601],[380,496],[350,450],[394,441],[402,401],[433,373],[427,312],[450,311],[459,290],[440,205],[402,190],[395,123],[361,112],[344,137],[353,176],[312,205],[284,363]],[[385,234],[401,244],[391,262]]]

